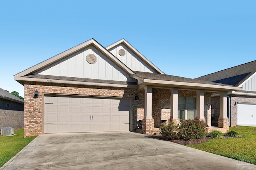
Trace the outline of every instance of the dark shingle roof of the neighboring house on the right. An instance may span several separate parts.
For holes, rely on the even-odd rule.
[[[242,80],[240,80],[238,84],[235,84],[235,86],[239,86],[242,82],[244,82],[247,78],[249,78],[255,72],[256,72],[256,60],[251,61],[249,63],[240,64],[238,66],[234,66],[231,68],[227,68],[225,70],[220,70],[218,72],[207,74],[205,76],[201,76],[195,79],[214,82],[218,80],[223,80],[225,78],[231,78],[231,77],[239,76],[242,74],[244,75],[248,74]]]

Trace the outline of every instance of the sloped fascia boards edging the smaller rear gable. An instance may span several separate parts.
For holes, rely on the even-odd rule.
[[[140,59],[142,59],[143,61],[145,61],[147,64],[149,64],[152,68],[154,68],[154,70],[158,71],[160,74],[164,74],[164,72],[162,72],[159,68],[157,68],[157,66],[155,66],[153,63],[151,63],[151,61],[149,61],[144,55],[142,55],[136,48],[134,48],[130,43],[128,43],[128,41],[126,41],[125,39],[120,39],[119,41],[109,45],[108,47],[106,47],[107,50],[112,49],[113,47],[119,45],[123,43],[124,45],[126,45],[129,49],[131,49],[136,55],[138,55],[140,57]]]

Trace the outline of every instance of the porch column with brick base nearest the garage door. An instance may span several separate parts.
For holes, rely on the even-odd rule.
[[[144,118],[142,131],[146,135],[154,133],[154,119],[152,118],[152,86],[144,87]]]

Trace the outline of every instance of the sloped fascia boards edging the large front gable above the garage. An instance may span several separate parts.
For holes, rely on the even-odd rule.
[[[68,55],[71,55],[73,53],[76,53],[77,51],[80,51],[90,45],[93,45],[94,47],[96,47],[97,49],[99,49],[100,51],[104,52],[105,55],[107,55],[114,63],[118,64],[120,67],[122,67],[122,69],[124,69],[125,72],[127,72],[128,74],[134,74],[134,72],[132,72],[132,70],[130,70],[130,68],[128,68],[126,65],[124,65],[121,61],[119,61],[116,57],[114,57],[114,55],[112,55],[108,50],[106,50],[104,47],[102,47],[102,45],[100,45],[97,41],[95,41],[94,39],[90,39],[88,41],[85,41],[84,43],[81,43],[75,47],[72,47],[71,49],[68,49],[54,57],[51,57],[50,59],[47,59],[39,64],[36,64],[16,75],[14,75],[14,79],[16,80],[19,77],[22,77],[26,74],[29,74],[31,72],[37,71],[40,68],[42,68],[43,66],[48,66],[52,63],[54,63],[55,61],[58,61],[64,57],[67,57]]]

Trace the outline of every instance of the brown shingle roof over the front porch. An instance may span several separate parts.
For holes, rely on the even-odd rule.
[[[220,83],[214,83],[214,82],[209,82],[209,81],[204,81],[204,80],[199,80],[199,79],[179,77],[179,76],[172,76],[172,75],[168,75],[168,74],[157,74],[157,73],[138,72],[138,71],[134,71],[134,72],[136,73],[136,76],[139,76],[140,78],[144,78],[144,79],[229,86],[229,85],[220,84]]]

